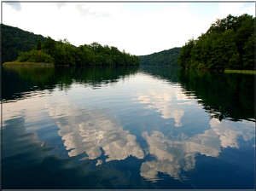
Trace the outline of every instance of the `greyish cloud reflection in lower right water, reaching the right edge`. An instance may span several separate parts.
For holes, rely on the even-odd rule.
[[[165,136],[160,131],[153,131],[150,135],[147,131],[143,132],[149,153],[154,155],[155,159],[143,162],[141,176],[157,182],[160,180],[158,172],[162,172],[180,180],[181,171],[195,168],[195,157],[198,153],[218,158],[222,148],[240,148],[239,139],[248,142],[255,137],[253,122],[220,122],[218,119],[211,119],[209,124],[210,130],[183,138],[181,141],[173,141],[175,138]]]

